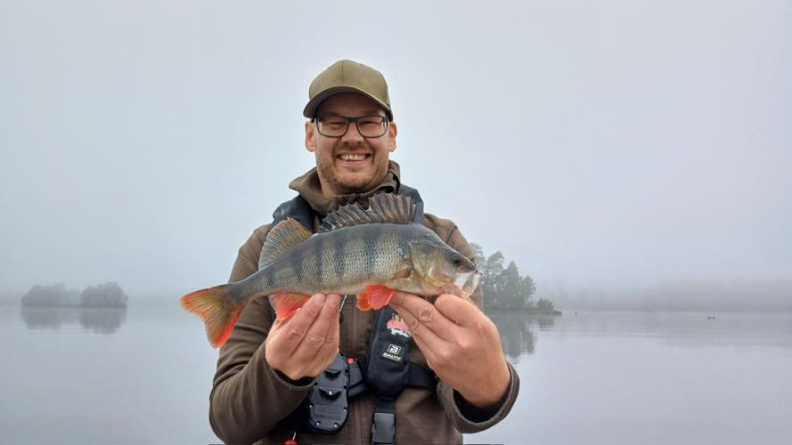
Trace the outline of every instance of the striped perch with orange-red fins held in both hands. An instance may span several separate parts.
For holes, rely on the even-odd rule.
[[[268,295],[276,320],[289,320],[311,295],[356,295],[357,308],[376,311],[396,291],[431,298],[469,298],[481,279],[475,264],[415,223],[412,198],[382,193],[369,206],[354,202],[328,214],[311,233],[286,218],[268,231],[258,271],[246,279],[181,298],[206,323],[209,344],[231,336],[244,307]]]

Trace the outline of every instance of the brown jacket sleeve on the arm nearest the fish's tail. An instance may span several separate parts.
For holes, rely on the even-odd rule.
[[[230,281],[258,270],[258,255],[268,226],[254,231],[240,248]],[[269,433],[310,390],[313,380],[290,382],[265,360],[265,340],[273,316],[266,297],[242,311],[228,342],[220,349],[209,395],[209,423],[225,442],[249,443]]]

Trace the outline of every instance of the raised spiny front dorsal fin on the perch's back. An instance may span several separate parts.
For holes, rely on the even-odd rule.
[[[369,208],[364,209],[354,202],[339,207],[325,216],[320,232],[332,231],[340,227],[370,223],[409,224],[415,218],[415,204],[412,198],[393,193],[380,193],[369,198]]]

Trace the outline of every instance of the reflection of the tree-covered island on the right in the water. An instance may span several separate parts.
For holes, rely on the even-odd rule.
[[[525,312],[487,312],[501,333],[503,352],[512,363],[519,356],[533,354],[536,346],[534,328],[540,331],[551,329],[555,320],[551,316],[533,315]]]

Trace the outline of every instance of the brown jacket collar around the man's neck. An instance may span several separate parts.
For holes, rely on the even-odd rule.
[[[308,170],[306,174],[299,176],[289,183],[291,190],[297,191],[300,196],[306,199],[314,211],[324,217],[324,215],[350,202],[361,201],[367,204],[368,198],[379,193],[398,193],[401,186],[399,179],[399,165],[396,161],[388,161],[388,173],[380,182],[380,185],[364,193],[353,193],[350,195],[331,195],[325,196],[322,193],[322,185],[319,183],[319,174],[316,167]]]

